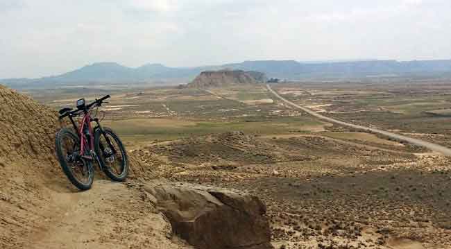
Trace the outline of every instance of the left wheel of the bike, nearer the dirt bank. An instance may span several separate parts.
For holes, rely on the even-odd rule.
[[[56,134],[56,155],[62,171],[80,190],[90,189],[94,180],[94,168],[91,160],[79,155],[80,139],[69,128],[62,128]]]

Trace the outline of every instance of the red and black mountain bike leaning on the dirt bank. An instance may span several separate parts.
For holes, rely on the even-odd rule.
[[[69,181],[80,190],[90,189],[94,180],[94,162],[111,180],[124,181],[128,175],[128,157],[121,139],[111,128],[101,126],[96,117],[110,95],[86,104],[76,101],[76,110],[62,108],[59,119],[69,117],[74,128],[62,128],[56,134],[56,155]],[[92,113],[96,112],[94,116]],[[81,117],[78,124],[74,118]],[[95,122],[93,128],[91,123]]]

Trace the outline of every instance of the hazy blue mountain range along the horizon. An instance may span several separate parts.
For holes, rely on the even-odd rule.
[[[257,60],[205,67],[166,67],[146,64],[125,67],[116,62],[99,62],[58,76],[43,78],[11,78],[0,80],[10,87],[55,87],[56,85],[85,85],[87,83],[149,83],[156,80],[184,79],[186,82],[201,71],[240,69],[260,71],[268,77],[298,78],[356,78],[390,75],[451,74],[451,60],[359,60],[342,62],[297,62],[296,60]]]

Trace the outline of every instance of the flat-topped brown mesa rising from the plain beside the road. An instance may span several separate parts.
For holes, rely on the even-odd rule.
[[[258,71],[219,70],[203,71],[187,87],[207,88],[223,85],[244,85],[265,83],[266,76]]]

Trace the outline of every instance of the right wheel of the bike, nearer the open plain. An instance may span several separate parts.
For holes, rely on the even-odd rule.
[[[121,139],[111,130],[96,130],[94,148],[102,169],[111,180],[123,182],[128,175],[128,158]]]

